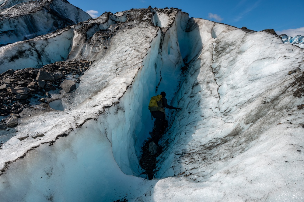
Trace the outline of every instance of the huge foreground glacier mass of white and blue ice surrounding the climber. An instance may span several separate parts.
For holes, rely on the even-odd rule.
[[[293,96],[303,49],[149,8],[105,13],[1,50],[7,58],[21,45],[35,53],[28,44],[45,41],[61,51],[63,59],[41,52],[53,62],[95,62],[74,92],[60,95],[65,111],[22,118],[2,146],[4,201],[303,200],[303,100]],[[28,55],[11,62],[42,61]],[[161,91],[181,109],[167,110],[155,179],[146,180],[138,159],[153,127],[149,99]]]

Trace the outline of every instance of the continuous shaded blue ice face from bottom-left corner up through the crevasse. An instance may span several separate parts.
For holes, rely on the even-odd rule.
[[[158,20],[162,20],[161,16]],[[157,24],[164,26],[166,21]],[[14,162],[10,172],[1,178],[2,198],[97,201],[101,197],[115,200],[115,196],[124,194],[135,198],[149,193],[150,185],[157,181],[146,180],[138,163],[143,142],[153,127],[148,103],[152,96],[166,91],[168,104],[183,107],[179,106],[184,93],[180,87],[190,76],[183,67],[196,60],[201,51],[199,31],[193,19],[179,12],[166,33],[158,30],[142,68],[119,102],[104,108],[95,120],[62,134],[60,141],[42,144]],[[79,93],[82,91],[80,86]],[[81,100],[78,104],[80,108],[86,103]],[[169,123],[175,116],[176,111],[167,110]],[[20,168],[23,172],[19,172]]]

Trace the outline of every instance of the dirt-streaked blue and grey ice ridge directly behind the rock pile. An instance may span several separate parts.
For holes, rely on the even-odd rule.
[[[113,14],[111,14],[113,15]],[[123,18],[123,16],[121,17]],[[66,59],[96,60],[103,57],[105,49],[100,40],[100,30],[107,30],[115,24],[116,16],[104,13],[99,18],[79,25],[57,30],[44,36],[16,42],[0,47],[0,72],[9,69],[42,67]],[[109,32],[111,32],[109,30]],[[96,34],[97,33],[97,34]],[[94,40],[94,39],[99,40]],[[88,40],[90,43],[88,43]],[[99,46],[100,45],[100,46]]]

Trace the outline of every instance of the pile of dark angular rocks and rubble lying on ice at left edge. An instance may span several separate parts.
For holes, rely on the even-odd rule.
[[[50,97],[51,94],[48,92],[61,89],[59,85],[71,75],[77,74],[76,82],[80,82],[79,77],[89,69],[92,63],[88,60],[59,61],[44,65],[39,70],[25,68],[16,71],[8,70],[0,74],[2,75],[0,77],[0,115],[20,113],[24,108],[30,107],[30,98],[37,94]],[[48,79],[43,78],[43,76]],[[43,86],[43,82],[39,82],[40,86],[38,86],[38,81],[43,80],[45,85]]]

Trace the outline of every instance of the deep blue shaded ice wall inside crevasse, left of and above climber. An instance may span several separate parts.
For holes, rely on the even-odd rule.
[[[162,19],[160,16],[157,20]],[[189,19],[183,13],[179,13],[176,18],[178,20],[165,34],[159,30],[157,37],[153,39],[151,48],[142,61],[143,67],[117,108],[109,109],[111,112],[105,113],[104,119],[110,122],[104,128],[112,142],[114,158],[121,170],[128,175],[147,178],[141,174],[143,170],[138,161],[143,142],[150,137],[149,132],[152,131],[155,120],[151,120],[148,110],[150,98],[165,91],[169,104],[178,106],[176,98],[182,97],[180,87],[187,74],[182,67],[191,60],[193,63],[202,48],[199,28],[194,19]],[[159,47],[162,47],[161,51]],[[172,124],[176,111],[167,109],[166,115]],[[117,119],[115,117],[118,117],[117,121],[113,121]],[[174,128],[172,125],[169,127]]]

